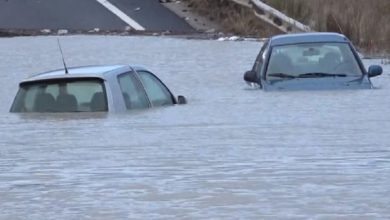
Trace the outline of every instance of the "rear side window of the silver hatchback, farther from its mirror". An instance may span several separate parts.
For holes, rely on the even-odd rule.
[[[149,108],[149,100],[133,73],[118,76],[120,88],[127,109]]]

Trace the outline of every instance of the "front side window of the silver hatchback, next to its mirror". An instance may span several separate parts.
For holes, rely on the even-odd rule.
[[[137,71],[153,106],[173,105],[169,90],[153,74]]]

